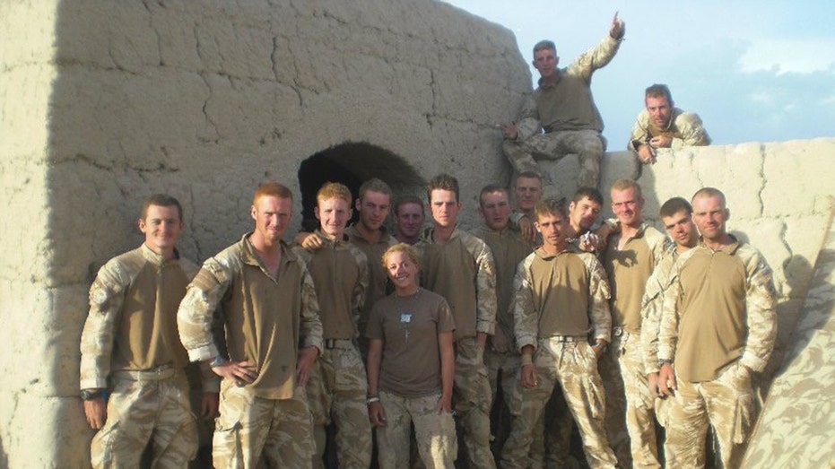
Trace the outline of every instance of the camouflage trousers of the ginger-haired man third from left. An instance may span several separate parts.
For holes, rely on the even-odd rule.
[[[336,427],[336,457],[345,469],[367,469],[371,464],[371,423],[365,402],[368,380],[360,351],[352,341],[337,340],[319,355],[307,385],[313,433],[314,467],[324,467],[325,427]]]

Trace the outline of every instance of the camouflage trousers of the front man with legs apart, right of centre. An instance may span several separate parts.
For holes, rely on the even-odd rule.
[[[542,418],[545,404],[558,384],[583,438],[588,465],[615,467],[617,461],[609,448],[604,428],[603,383],[591,346],[585,339],[540,339],[534,366],[539,380],[537,386],[528,389],[518,382],[510,400],[513,427],[502,451],[501,467],[526,468],[530,465],[528,451],[536,423]]]

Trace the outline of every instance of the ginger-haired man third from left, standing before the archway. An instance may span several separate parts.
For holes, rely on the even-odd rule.
[[[307,386],[317,455],[324,466],[326,426],[336,425],[336,457],[341,467],[366,469],[371,464],[371,425],[365,395],[368,380],[357,339],[359,319],[369,285],[368,258],[345,240],[351,219],[351,191],[328,182],[316,195],[314,233],[321,247],[310,253],[293,248],[303,258],[316,285],[325,350],[311,371]]]

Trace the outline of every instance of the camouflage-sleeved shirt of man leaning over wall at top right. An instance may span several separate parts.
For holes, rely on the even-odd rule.
[[[640,145],[649,143],[652,137],[659,135],[670,138],[670,148],[674,150],[685,146],[705,146],[710,144],[710,136],[705,131],[704,126],[702,126],[698,114],[673,108],[670,122],[667,123],[665,128],[661,128],[655,125],[652,119],[649,118],[649,111],[644,109],[640,111],[638,119],[632,126],[632,134],[630,135],[630,140],[626,148],[632,152],[638,152]]]

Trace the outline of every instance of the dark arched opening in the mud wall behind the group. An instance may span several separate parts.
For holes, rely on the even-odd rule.
[[[318,227],[313,213],[316,193],[328,181],[351,189],[356,200],[363,181],[380,178],[391,186],[393,200],[399,195],[422,195],[426,181],[403,157],[370,143],[342,143],[310,156],[299,165],[301,189],[301,229]],[[357,213],[352,221],[356,221]]]

